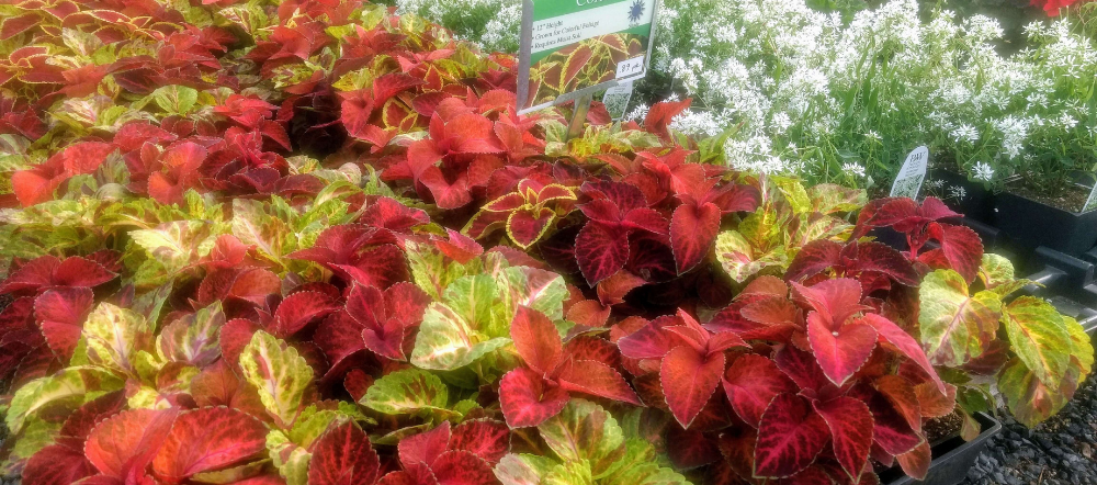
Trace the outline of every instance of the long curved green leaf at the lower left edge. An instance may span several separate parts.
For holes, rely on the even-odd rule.
[[[80,405],[122,388],[125,381],[95,366],[67,368],[54,375],[31,381],[15,391],[4,422],[12,435],[38,411],[75,410]],[[58,414],[65,416],[67,413]]]

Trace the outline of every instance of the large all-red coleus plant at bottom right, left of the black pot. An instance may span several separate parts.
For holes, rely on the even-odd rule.
[[[860,483],[874,480],[870,452],[924,476],[929,445],[921,422],[951,411],[950,397],[917,340],[862,296],[852,279],[793,283],[790,292],[783,281],[761,277],[703,326],[679,313],[618,345],[635,359],[645,399],[661,398],[682,428],[697,428],[688,439],[714,435],[708,439],[730,448],[721,466],[742,480]],[[721,386],[745,428],[728,430],[711,417],[698,426],[705,408],[720,406]],[[934,411],[921,413],[918,386]]]

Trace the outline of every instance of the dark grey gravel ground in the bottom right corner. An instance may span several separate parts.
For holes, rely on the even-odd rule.
[[[1036,429],[1002,417],[1002,432],[968,471],[964,485],[1097,485],[1097,380]]]

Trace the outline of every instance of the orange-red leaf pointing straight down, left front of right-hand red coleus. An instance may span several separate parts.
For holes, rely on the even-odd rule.
[[[659,381],[667,406],[682,428],[689,428],[716,391],[724,362],[723,352],[705,354],[689,346],[675,347],[663,358]]]

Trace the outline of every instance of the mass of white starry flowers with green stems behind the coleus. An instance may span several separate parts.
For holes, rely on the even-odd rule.
[[[395,1],[517,48],[520,0]],[[1026,47],[1005,55],[997,19],[917,0],[661,0],[629,117],[692,98],[671,127],[719,137],[720,161],[744,170],[885,190],[928,145],[988,188],[1021,176],[1054,194],[1097,169],[1097,49],[1079,16],[1032,22]]]

